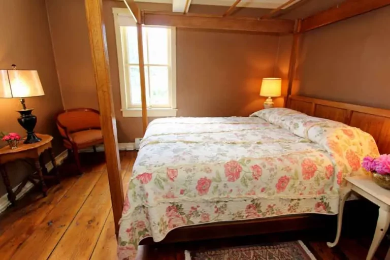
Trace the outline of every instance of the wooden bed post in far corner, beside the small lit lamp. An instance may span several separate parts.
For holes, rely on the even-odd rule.
[[[288,87],[287,87],[287,101],[285,106],[289,107],[289,96],[291,95],[291,89],[293,89],[293,83],[295,79],[296,73],[296,64],[299,58],[299,50],[301,45],[301,24],[302,20],[298,19],[296,23],[296,28],[293,36],[293,46],[291,47],[291,56],[290,56],[290,64],[288,67]]]

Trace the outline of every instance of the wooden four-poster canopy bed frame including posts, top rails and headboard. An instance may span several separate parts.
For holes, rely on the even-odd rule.
[[[104,145],[111,192],[112,210],[114,221],[116,223],[115,231],[116,234],[118,234],[119,219],[123,209],[123,190],[119,173],[120,164],[118,141],[110,80],[110,67],[108,62],[106,31],[103,20],[103,4],[102,0],[84,1],[96,89],[98,92],[99,109],[101,113],[102,132],[105,137]],[[288,0],[282,6],[272,10],[270,14],[264,17],[259,17],[258,19],[230,16],[232,11],[236,8],[236,5],[241,0],[236,0],[234,4],[223,15],[220,16],[192,13],[187,14],[189,0],[186,1],[185,10],[183,13],[143,11],[138,8],[134,0],[123,1],[133,15],[134,19],[137,21],[144,132],[148,124],[148,119],[146,111],[145,75],[143,72],[144,58],[142,46],[142,24],[186,28],[255,31],[258,33],[273,34],[294,34],[288,71],[288,97],[291,93],[293,81],[296,78],[296,64],[299,57],[300,42],[304,32],[390,5],[390,0],[345,0],[340,5],[329,10],[320,12],[303,20],[297,19],[294,21],[272,19],[272,16],[275,16],[276,13],[283,8],[283,6],[295,5],[301,0]],[[353,126],[361,127],[364,131],[367,131],[374,136],[382,152],[386,152],[390,149],[390,145],[385,140],[387,135],[389,135],[387,132],[390,123],[388,120],[388,111],[294,96],[291,97],[291,99],[288,101],[288,106],[296,110],[307,112],[308,114],[330,118],[337,121],[342,120],[343,122],[349,123]],[[275,221],[279,221],[277,219],[280,220],[282,218],[275,218]],[[282,219],[282,222],[286,219],[287,218]],[[271,220],[262,221],[264,222]],[[242,221],[240,223],[244,222],[248,222],[251,225],[254,225],[253,221]],[[229,223],[229,225],[231,229],[231,224]],[[193,228],[189,227],[188,229],[191,230]]]

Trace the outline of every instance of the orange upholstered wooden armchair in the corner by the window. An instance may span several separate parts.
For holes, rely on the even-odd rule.
[[[56,115],[56,123],[63,145],[72,150],[78,174],[82,174],[79,149],[103,143],[100,113],[90,108],[68,109]]]

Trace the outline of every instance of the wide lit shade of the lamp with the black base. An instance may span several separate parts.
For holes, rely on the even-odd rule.
[[[0,98],[44,95],[37,71],[0,70]]]

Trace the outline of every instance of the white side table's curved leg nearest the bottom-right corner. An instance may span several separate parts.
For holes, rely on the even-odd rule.
[[[371,260],[374,257],[375,251],[378,248],[380,242],[382,241],[386,231],[388,229],[388,224],[390,223],[390,207],[389,206],[381,206],[379,208],[379,216],[378,221],[376,223],[374,238],[372,239],[372,243],[370,249],[368,250],[367,260]]]

